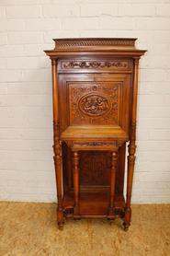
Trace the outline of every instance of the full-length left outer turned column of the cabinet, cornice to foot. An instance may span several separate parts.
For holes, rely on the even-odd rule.
[[[57,222],[60,229],[63,227],[63,210],[62,210],[62,142],[60,140],[60,123],[58,110],[58,85],[57,85],[57,62],[51,60],[52,67],[52,101],[53,101],[53,151],[54,165],[57,185]]]

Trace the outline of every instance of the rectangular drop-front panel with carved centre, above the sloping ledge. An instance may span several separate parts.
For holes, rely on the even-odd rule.
[[[70,125],[112,125],[128,134],[130,75],[60,74],[59,81],[61,132]]]

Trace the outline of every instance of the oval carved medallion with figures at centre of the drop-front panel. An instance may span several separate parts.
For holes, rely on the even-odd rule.
[[[79,100],[79,109],[87,115],[100,116],[110,109],[107,98],[97,94],[87,94]]]

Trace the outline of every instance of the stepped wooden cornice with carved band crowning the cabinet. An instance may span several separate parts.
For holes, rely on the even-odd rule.
[[[142,56],[145,50],[138,50],[135,47],[134,38],[73,38],[73,39],[54,39],[55,47],[53,50],[46,50],[51,58],[63,55],[76,55],[78,52],[93,52],[93,55],[107,52],[109,55],[129,55]]]

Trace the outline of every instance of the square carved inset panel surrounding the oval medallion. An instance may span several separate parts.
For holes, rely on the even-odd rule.
[[[70,123],[118,124],[121,83],[69,84]]]

